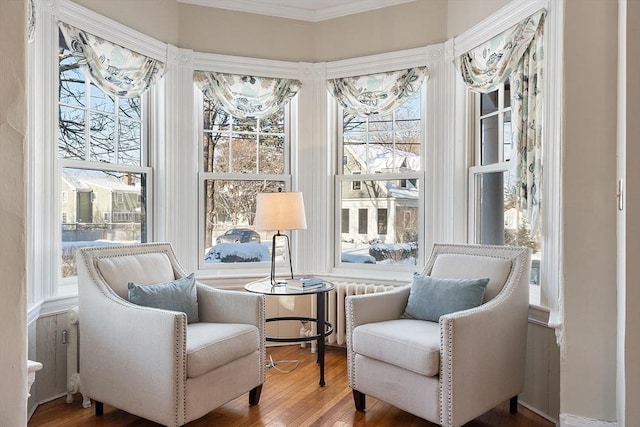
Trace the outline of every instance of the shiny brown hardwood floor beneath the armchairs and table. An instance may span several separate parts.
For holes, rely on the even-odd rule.
[[[245,394],[203,418],[187,424],[205,426],[424,426],[435,424],[367,396],[366,412],[354,408],[351,389],[347,385],[346,355],[342,348],[326,351],[326,386],[318,385],[315,354],[298,345],[270,347],[267,351],[276,362],[267,370],[260,404],[250,407]],[[298,360],[299,365],[290,373]],[[104,405],[104,415],[95,417],[94,408],[82,408],[80,394],[66,404],[64,398],[40,405],[28,427],[151,427],[158,424]],[[554,424],[522,406],[517,414],[509,413],[509,402],[466,424],[466,427],[552,427]]]

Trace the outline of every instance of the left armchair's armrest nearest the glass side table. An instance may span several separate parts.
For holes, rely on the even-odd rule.
[[[201,322],[248,323],[264,329],[265,298],[261,294],[216,289],[197,284]]]

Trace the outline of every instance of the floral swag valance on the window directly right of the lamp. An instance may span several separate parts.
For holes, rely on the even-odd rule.
[[[427,67],[327,80],[327,88],[349,114],[388,114],[413,95],[427,76]]]

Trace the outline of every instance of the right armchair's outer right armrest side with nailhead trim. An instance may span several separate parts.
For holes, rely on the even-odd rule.
[[[442,413],[456,425],[524,387],[528,289],[440,318]],[[518,295],[519,294],[519,295]],[[449,411],[455,407],[455,411]],[[483,409],[484,408],[484,409]]]

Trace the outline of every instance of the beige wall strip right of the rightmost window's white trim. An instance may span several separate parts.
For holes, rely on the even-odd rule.
[[[617,2],[565,5],[560,411],[614,421]]]

